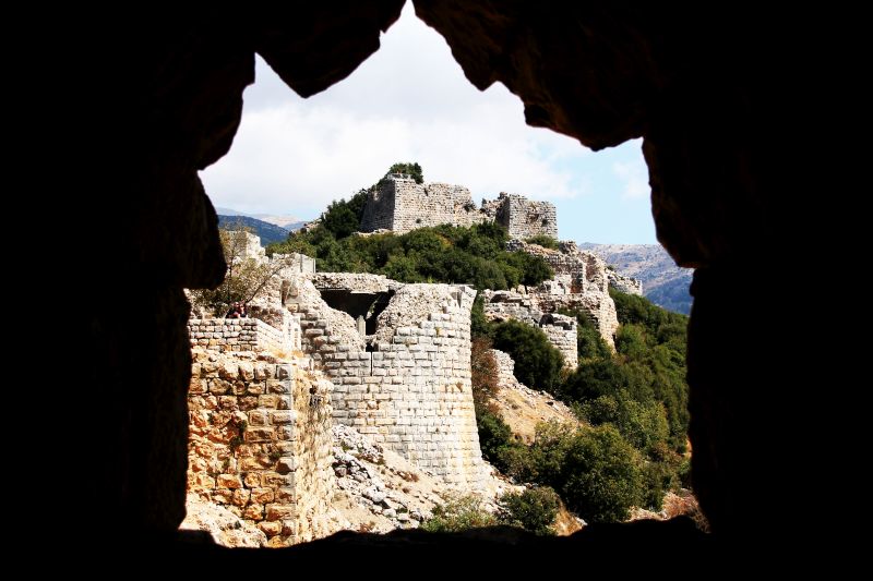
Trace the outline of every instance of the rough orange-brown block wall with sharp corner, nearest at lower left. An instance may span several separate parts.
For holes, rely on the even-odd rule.
[[[193,351],[188,487],[256,525],[270,546],[333,532],[330,383],[308,359]]]

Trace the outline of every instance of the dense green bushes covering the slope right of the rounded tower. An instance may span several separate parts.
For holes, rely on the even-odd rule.
[[[517,339],[512,354],[519,380],[546,388],[590,424],[575,431],[542,425],[535,443],[525,446],[487,404],[479,375],[473,387],[474,395],[480,392],[476,414],[482,455],[517,481],[553,487],[567,508],[589,522],[624,520],[631,506],[659,508],[663,494],[679,486],[687,471],[682,456],[689,421],[687,319],[639,296],[612,292],[612,298],[621,323],[617,353],[587,314],[564,312],[579,323],[579,367],[549,380],[543,377],[552,372],[543,371],[540,358],[525,356],[542,350],[545,336],[489,323],[474,313],[474,331],[500,335],[499,349],[512,351],[510,344]],[[481,344],[487,340],[474,349]]]

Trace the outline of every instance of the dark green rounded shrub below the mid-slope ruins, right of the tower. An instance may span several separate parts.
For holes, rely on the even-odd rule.
[[[563,358],[546,334],[518,320],[494,326],[494,348],[515,361],[515,377],[533,389],[554,392],[561,382]]]

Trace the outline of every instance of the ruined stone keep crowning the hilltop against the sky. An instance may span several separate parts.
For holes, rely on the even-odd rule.
[[[369,192],[361,232],[391,230],[403,234],[442,223],[473,226],[486,221],[502,225],[511,238],[538,234],[558,238],[558,216],[550,202],[501,193],[497,199],[483,199],[477,208],[469,190],[463,185],[418,184],[403,173],[386,175]]]

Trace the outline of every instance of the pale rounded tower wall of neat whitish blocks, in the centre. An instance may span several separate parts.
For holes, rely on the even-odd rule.
[[[470,386],[475,296],[467,287],[405,286],[383,313],[398,326],[378,330],[374,351],[338,347],[323,360],[336,422],[466,489],[483,476]]]

